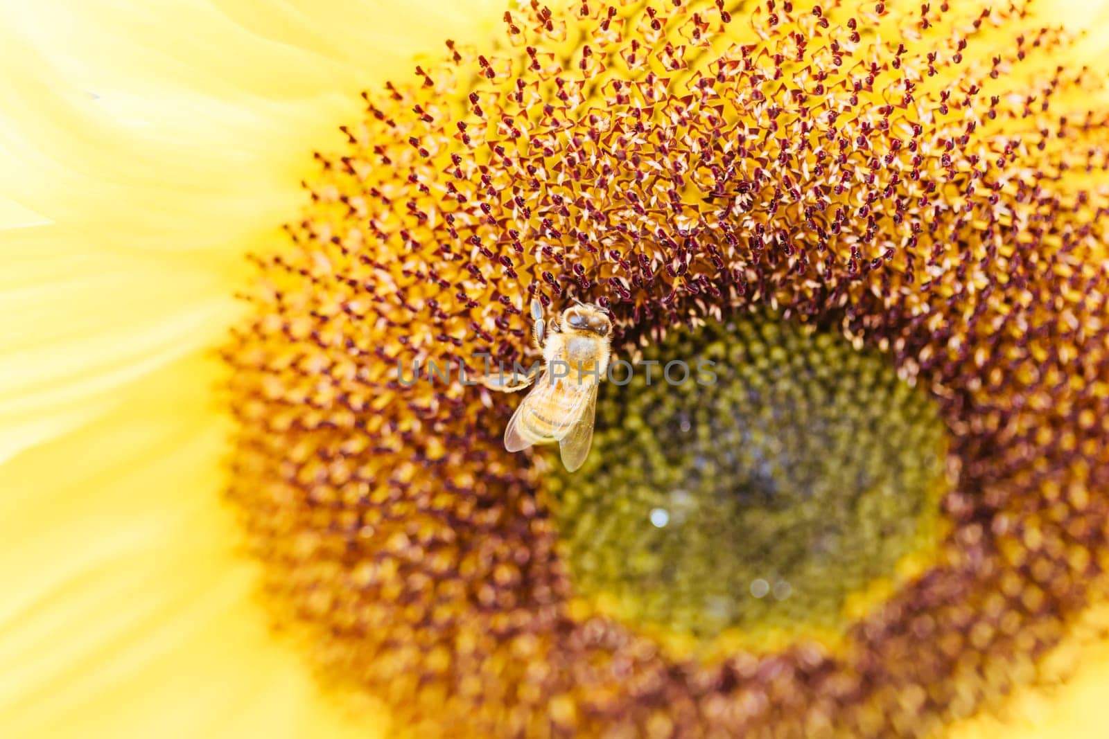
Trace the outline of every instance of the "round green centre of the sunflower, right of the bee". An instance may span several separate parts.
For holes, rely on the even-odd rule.
[[[644,360],[659,365],[602,386],[586,466],[559,465],[549,486],[580,594],[631,623],[757,646],[842,632],[866,592],[933,550],[945,429],[882,356],[756,314],[673,331]],[[663,377],[675,360],[683,383]]]

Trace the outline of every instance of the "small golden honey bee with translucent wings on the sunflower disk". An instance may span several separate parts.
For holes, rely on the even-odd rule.
[[[543,307],[531,301],[531,331],[542,352],[543,369],[535,373],[490,379],[487,387],[517,392],[532,386],[505,430],[505,449],[518,452],[532,444],[558,442],[562,464],[580,468],[593,441],[597,387],[608,371],[612,321],[599,305],[574,300],[560,318],[546,324]],[[535,381],[535,382],[532,382]]]

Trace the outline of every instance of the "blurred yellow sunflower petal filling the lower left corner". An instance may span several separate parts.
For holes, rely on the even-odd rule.
[[[175,362],[0,468],[4,736],[354,736],[232,551],[212,369]]]

